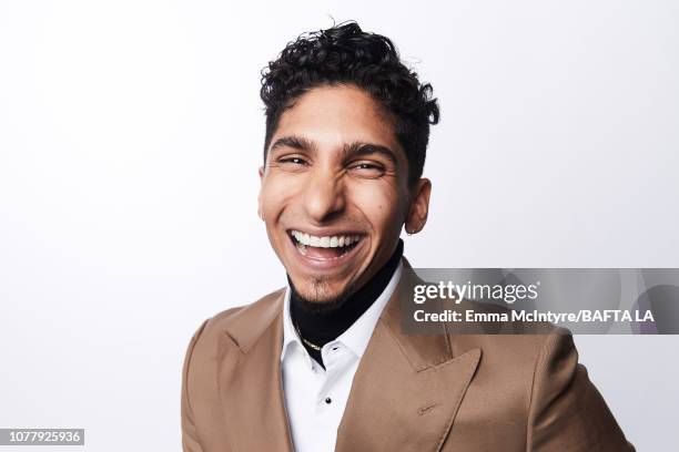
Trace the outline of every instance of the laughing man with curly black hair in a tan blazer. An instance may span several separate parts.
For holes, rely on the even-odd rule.
[[[193,337],[184,451],[634,450],[570,336],[402,331],[438,106],[387,38],[303,35],[261,95],[259,213],[288,285]]]

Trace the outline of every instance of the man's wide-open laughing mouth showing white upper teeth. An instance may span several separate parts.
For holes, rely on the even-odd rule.
[[[364,238],[363,235],[355,233],[314,236],[296,229],[288,230],[287,235],[301,256],[327,264],[344,260]]]

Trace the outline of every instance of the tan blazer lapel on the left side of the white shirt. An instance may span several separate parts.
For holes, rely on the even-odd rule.
[[[222,338],[217,378],[233,452],[292,452],[281,380],[283,297],[244,308]]]

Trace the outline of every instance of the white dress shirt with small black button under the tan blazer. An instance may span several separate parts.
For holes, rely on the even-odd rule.
[[[335,450],[337,428],[352,389],[354,373],[373,335],[382,310],[401,274],[398,264],[392,279],[373,305],[337,339],[321,349],[325,369],[306,351],[290,317],[290,287],[283,305],[283,350],[281,369],[287,419],[297,452]]]

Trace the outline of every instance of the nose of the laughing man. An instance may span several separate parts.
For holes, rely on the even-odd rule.
[[[304,192],[304,207],[310,219],[316,223],[331,220],[344,210],[344,183],[331,171],[315,171]]]

